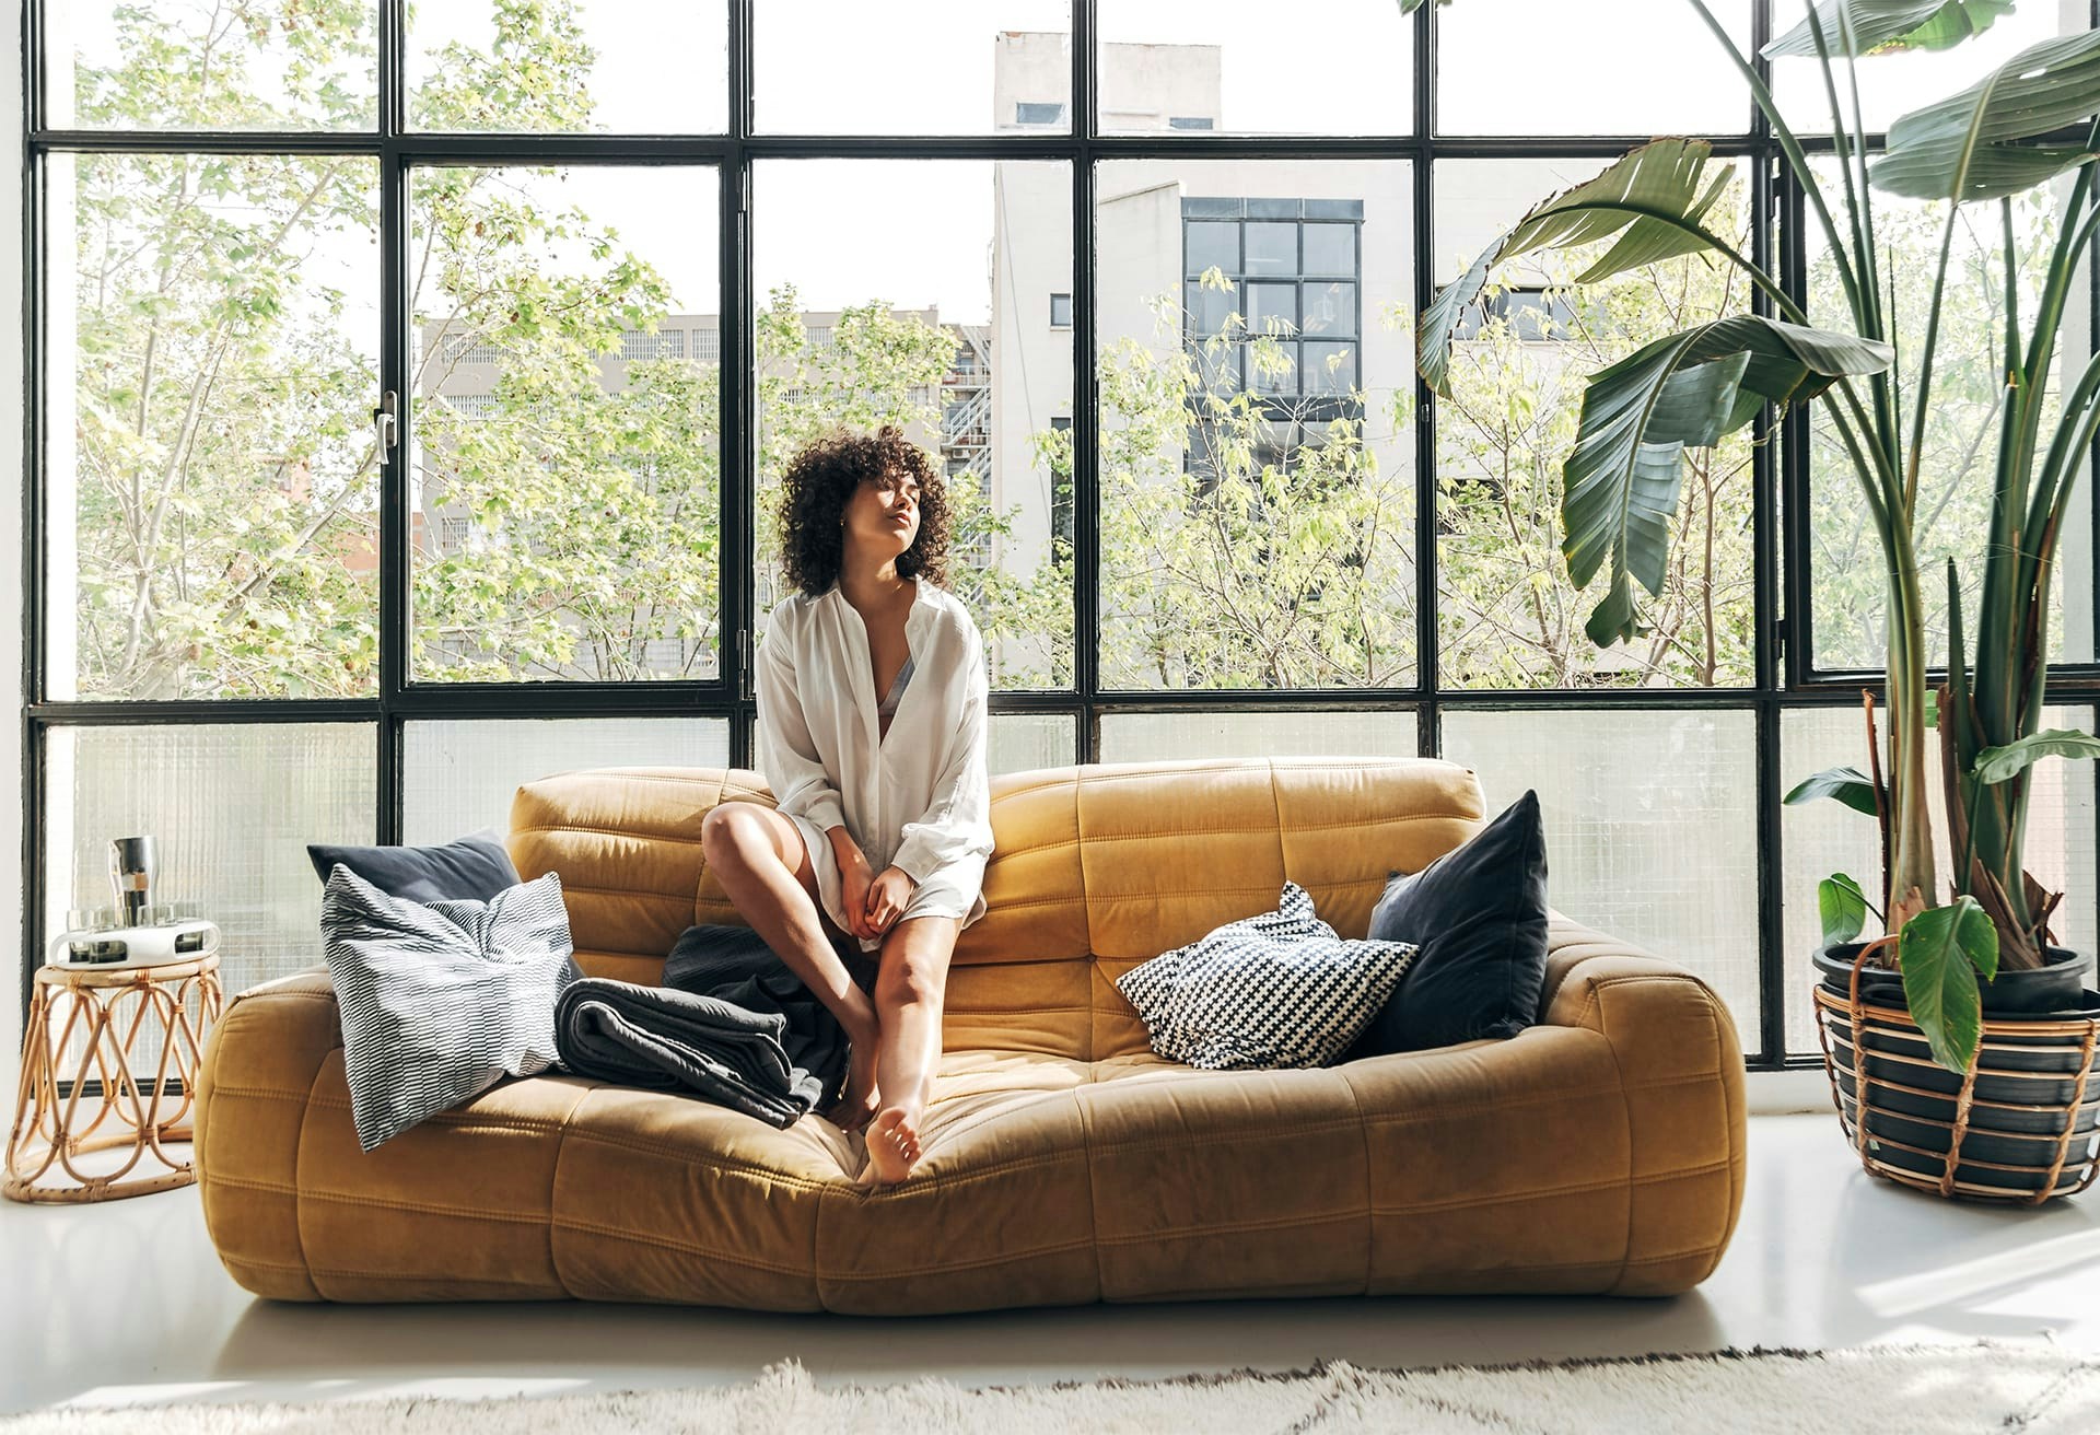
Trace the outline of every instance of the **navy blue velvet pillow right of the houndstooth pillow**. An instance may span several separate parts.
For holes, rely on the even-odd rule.
[[[1371,941],[1422,952],[1342,1061],[1516,1036],[1546,987],[1546,828],[1537,792],[1413,876],[1392,874]]]

